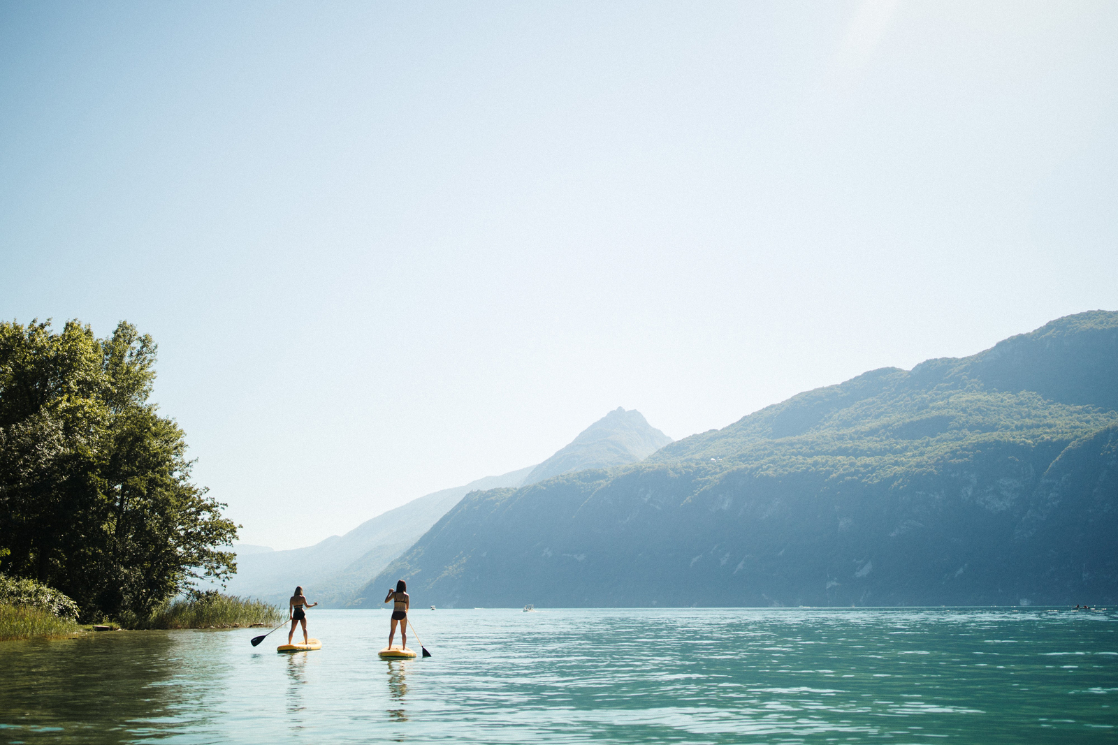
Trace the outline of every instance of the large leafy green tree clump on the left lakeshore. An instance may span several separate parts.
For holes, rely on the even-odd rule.
[[[0,547],[85,617],[146,618],[236,565],[237,527],[190,480],[178,424],[148,399],[157,347],[122,322],[0,323]]]

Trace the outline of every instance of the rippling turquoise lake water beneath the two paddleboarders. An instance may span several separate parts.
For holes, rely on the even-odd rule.
[[[1112,612],[413,617],[432,658],[380,660],[381,611],[312,611],[323,648],[295,655],[256,629],[0,642],[0,741],[1118,742]]]

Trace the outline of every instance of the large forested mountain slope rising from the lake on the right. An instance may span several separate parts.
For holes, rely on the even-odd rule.
[[[370,582],[442,606],[1118,602],[1118,313],[472,493]],[[379,598],[377,599],[379,600]]]

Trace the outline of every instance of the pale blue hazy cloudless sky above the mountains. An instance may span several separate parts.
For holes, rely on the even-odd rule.
[[[277,548],[1118,309],[1118,3],[0,3],[0,317]]]

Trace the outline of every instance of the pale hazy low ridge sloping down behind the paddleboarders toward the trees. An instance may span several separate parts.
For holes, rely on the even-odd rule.
[[[331,536],[306,548],[272,551],[238,545],[237,573],[226,592],[286,604],[295,585],[301,584],[312,601],[325,608],[341,606],[466,493],[519,485],[531,469],[529,466],[428,494],[366,520],[345,535]]]

